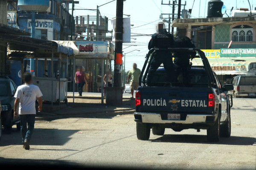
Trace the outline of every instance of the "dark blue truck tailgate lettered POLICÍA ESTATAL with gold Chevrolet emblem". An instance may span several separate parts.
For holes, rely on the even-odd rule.
[[[212,113],[208,94],[212,88],[140,87],[141,104],[137,112],[148,113]]]

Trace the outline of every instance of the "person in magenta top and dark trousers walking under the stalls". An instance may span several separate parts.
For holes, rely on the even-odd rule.
[[[77,68],[77,71],[76,71],[76,74],[75,74],[75,82],[77,84],[77,91],[79,93],[79,96],[82,96],[85,81],[88,82],[88,79],[85,75],[85,72],[82,71],[81,67]]]

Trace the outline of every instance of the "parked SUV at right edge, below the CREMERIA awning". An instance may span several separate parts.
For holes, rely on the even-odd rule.
[[[256,75],[233,77],[231,84],[234,86],[230,91],[233,97],[256,97]]]

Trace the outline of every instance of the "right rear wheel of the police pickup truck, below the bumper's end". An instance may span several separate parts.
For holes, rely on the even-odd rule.
[[[207,129],[207,141],[209,142],[218,142],[220,140],[220,113],[213,126]]]

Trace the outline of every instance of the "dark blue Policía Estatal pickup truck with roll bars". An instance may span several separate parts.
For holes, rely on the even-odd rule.
[[[151,85],[145,83],[150,62],[157,50],[195,51],[202,59],[202,66],[189,69],[189,85],[182,86],[182,74],[178,82],[166,82],[164,68],[154,73]],[[184,129],[207,130],[207,140],[218,142],[220,137],[230,137],[230,108],[232,96],[227,91],[233,85],[221,85],[212,71],[204,52],[198,48],[152,48],[145,59],[136,91],[134,120],[137,123],[137,138],[148,140],[150,130],[154,135],[163,135],[165,128],[176,132]]]

